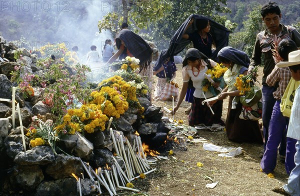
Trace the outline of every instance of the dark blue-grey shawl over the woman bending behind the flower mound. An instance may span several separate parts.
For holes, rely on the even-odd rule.
[[[124,41],[129,52],[139,59],[140,70],[150,64],[153,50],[141,36],[128,29],[122,29],[115,37],[118,49],[121,46],[121,40]]]

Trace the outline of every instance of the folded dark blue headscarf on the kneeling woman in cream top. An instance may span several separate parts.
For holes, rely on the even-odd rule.
[[[240,51],[240,50],[235,49],[230,46],[223,47],[217,53],[217,56],[221,56],[221,57],[226,58],[236,64],[240,64],[245,67],[248,67],[250,64],[250,59],[245,52]]]

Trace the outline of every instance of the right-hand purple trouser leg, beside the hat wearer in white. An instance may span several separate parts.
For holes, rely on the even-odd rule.
[[[295,167],[294,156],[296,153],[296,143],[297,139],[286,137],[285,170],[288,175]]]

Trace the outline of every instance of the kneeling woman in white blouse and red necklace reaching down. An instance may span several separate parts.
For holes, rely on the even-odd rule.
[[[208,68],[214,67],[215,65],[216,62],[207,58],[207,56],[205,56],[203,53],[201,53],[195,48],[189,48],[186,51],[182,64],[183,85],[176,106],[173,108],[171,113],[173,114],[178,110],[185,96],[188,81],[189,79],[191,79],[193,82],[193,86],[195,87],[195,91],[193,93],[191,111],[188,115],[188,124],[190,126],[202,123],[206,126],[211,126],[213,123],[221,125],[224,124],[224,122],[221,119],[222,112],[220,109],[222,101],[216,101],[211,106],[214,114],[212,114],[207,104],[202,105],[201,103],[203,100],[205,100],[202,91],[202,81],[204,79],[204,73]],[[212,93],[209,91],[206,91],[204,94],[206,98],[213,96]]]

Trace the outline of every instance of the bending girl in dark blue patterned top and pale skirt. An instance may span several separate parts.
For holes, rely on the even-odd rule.
[[[158,56],[158,60],[153,67],[153,75],[158,77],[153,97],[155,100],[159,99],[161,96],[166,83],[176,77],[177,67],[174,63],[173,56],[164,60],[161,59],[161,56],[163,56],[166,51],[167,49],[161,51],[161,54]]]

